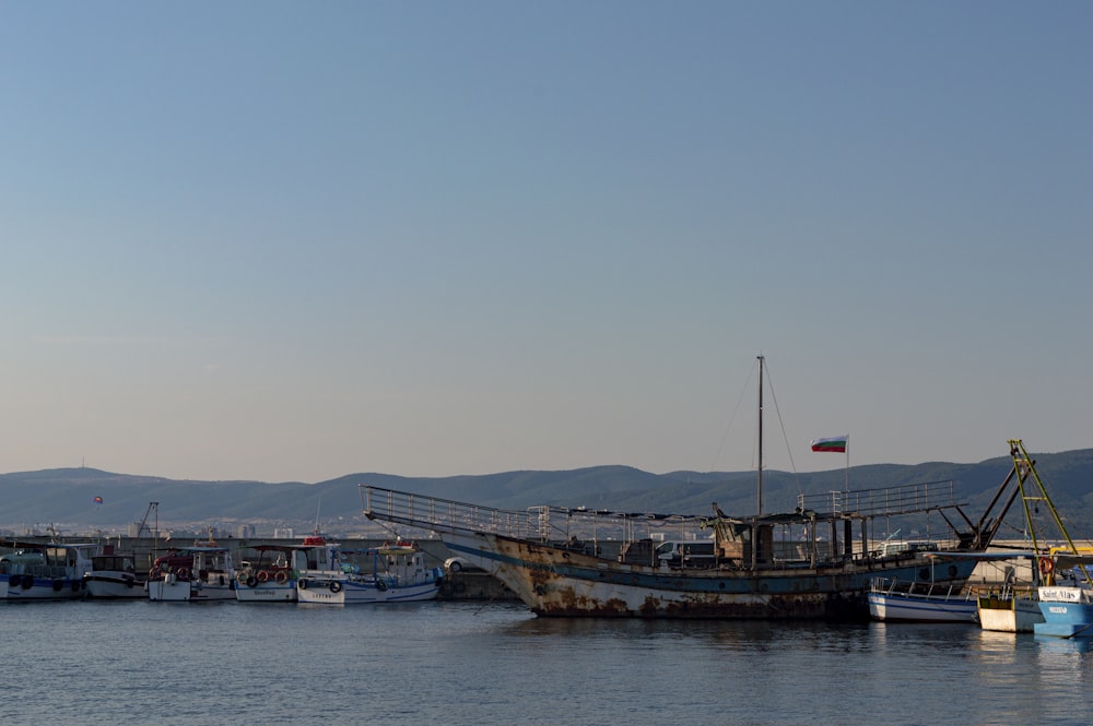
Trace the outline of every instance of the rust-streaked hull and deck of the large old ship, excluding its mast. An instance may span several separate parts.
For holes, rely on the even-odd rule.
[[[871,493],[880,500],[912,496]],[[635,520],[681,524],[679,517],[615,514],[614,520],[597,516],[599,523],[592,524],[592,513],[563,508],[503,511],[368,486],[362,496],[367,516],[436,532],[448,549],[493,573],[541,616],[862,620],[869,617],[866,593],[877,576],[962,586],[975,568],[972,560],[943,562],[922,552],[877,557],[854,540],[844,540],[845,548],[821,549],[814,535],[806,543],[796,536],[774,538],[776,527],[811,532],[828,525],[834,532],[836,524],[853,521],[813,510],[703,517],[717,533],[714,562],[675,568],[640,555],[655,551],[656,543],[648,539],[625,541],[619,557],[609,558],[596,535],[587,541],[566,533],[598,528],[612,538],[612,533],[624,536]],[[991,534],[963,533],[948,544],[954,551],[983,548]]]

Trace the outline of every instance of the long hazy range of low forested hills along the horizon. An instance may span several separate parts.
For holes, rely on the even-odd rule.
[[[1093,536],[1093,449],[1032,454],[1072,534]],[[892,487],[925,481],[954,483],[966,511],[978,516],[1010,471],[1008,456],[978,464],[928,462],[854,466],[847,473],[763,473],[764,511],[789,511],[798,493]],[[231,528],[254,523],[259,534],[273,526],[334,532],[361,521],[359,485],[369,484],[431,497],[522,510],[537,504],[587,507],[625,512],[706,514],[717,502],[731,514],[755,511],[754,472],[649,474],[627,466],[559,472],[506,472],[486,476],[408,478],[351,474],[329,481],[195,481],[60,468],[0,475],[0,529],[22,533],[55,524],[62,533],[120,531],[158,502],[161,526]],[[102,503],[96,503],[96,497]],[[1013,520],[1013,517],[1008,517]],[[1020,522],[1020,519],[1014,520]]]

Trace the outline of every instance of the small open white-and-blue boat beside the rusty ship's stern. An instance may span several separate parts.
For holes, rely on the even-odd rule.
[[[976,598],[962,587],[878,578],[866,597],[873,620],[973,623],[976,619]]]

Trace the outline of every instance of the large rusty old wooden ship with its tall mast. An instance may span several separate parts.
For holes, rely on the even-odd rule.
[[[760,358],[760,412],[762,370]],[[762,414],[760,421],[762,430]],[[762,492],[762,464],[759,472]],[[800,495],[791,512],[764,514],[760,504],[751,516],[728,516],[716,504],[710,515],[505,511],[365,485],[361,492],[369,519],[436,533],[541,616],[861,620],[877,578],[962,586],[976,561],[939,556],[987,548],[1015,497],[988,516],[1011,479],[1012,472],[977,523],[951,481]],[[875,521],[930,514],[941,514],[947,528],[929,551],[874,549]],[[966,527],[957,531],[953,521]],[[712,543],[714,556],[658,557],[660,543],[643,536],[654,524],[679,539]]]

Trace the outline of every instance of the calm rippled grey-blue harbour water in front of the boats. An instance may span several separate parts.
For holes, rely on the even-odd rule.
[[[518,605],[0,605],[15,724],[1088,724],[1089,643]]]

